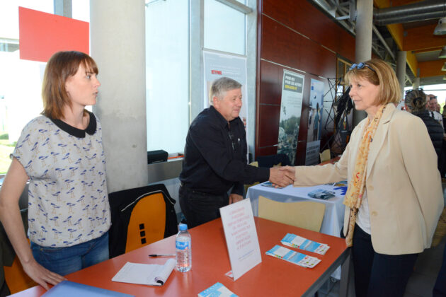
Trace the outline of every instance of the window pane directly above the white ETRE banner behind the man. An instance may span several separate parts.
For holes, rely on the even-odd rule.
[[[206,0],[204,35],[207,49],[245,54],[246,15],[216,0]]]

